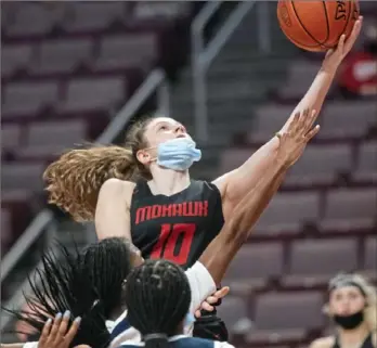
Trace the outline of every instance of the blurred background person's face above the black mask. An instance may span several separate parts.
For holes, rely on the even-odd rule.
[[[355,286],[343,286],[332,291],[329,311],[332,314],[350,315],[365,307],[365,297]]]

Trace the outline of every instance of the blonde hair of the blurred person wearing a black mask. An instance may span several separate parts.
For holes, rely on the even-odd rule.
[[[347,280],[358,285],[365,294],[366,307],[364,310],[364,321],[367,324],[368,328],[373,332],[377,331],[377,292],[376,288],[361,274],[339,274],[335,276],[332,283],[341,281],[347,276]],[[329,306],[326,304],[324,306],[324,312],[329,314]]]

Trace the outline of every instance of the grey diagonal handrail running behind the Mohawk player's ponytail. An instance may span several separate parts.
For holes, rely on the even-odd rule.
[[[110,143],[114,141],[118,136],[119,130],[125,128],[131,116],[156,90],[158,112],[169,115],[169,88],[166,81],[166,75],[161,69],[156,68],[150,73],[144,82],[138,88],[103,133],[96,139],[96,142]],[[1,261],[1,282],[8,276],[25,252],[53,220],[53,215],[49,209],[43,209],[36,216]]]

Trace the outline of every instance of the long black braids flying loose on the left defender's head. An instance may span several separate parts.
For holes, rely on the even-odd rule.
[[[131,270],[130,253],[125,240],[112,237],[90,245],[82,253],[70,254],[58,245],[55,253],[42,255],[42,268],[29,278],[31,296],[25,296],[29,310],[8,310],[37,330],[58,312],[69,310],[72,320],[81,317],[79,331],[70,347],[89,345],[107,347],[109,313],[120,306],[122,283]],[[119,302],[117,302],[119,300]]]

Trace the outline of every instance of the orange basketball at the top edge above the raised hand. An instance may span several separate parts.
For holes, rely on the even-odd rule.
[[[359,17],[358,0],[280,0],[277,18],[285,36],[297,47],[312,52],[337,46],[348,37]]]

